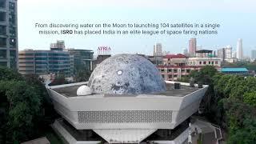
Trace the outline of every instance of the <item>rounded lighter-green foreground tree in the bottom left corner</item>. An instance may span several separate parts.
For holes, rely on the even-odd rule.
[[[34,120],[40,114],[41,98],[33,86],[24,81],[1,81],[1,97],[6,97],[4,115],[6,134],[2,137],[6,142],[19,142],[34,136],[37,129],[34,129]]]

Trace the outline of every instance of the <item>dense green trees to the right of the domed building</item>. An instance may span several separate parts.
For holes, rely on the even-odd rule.
[[[220,74],[210,66],[191,72],[190,77],[209,85],[202,100],[206,117],[228,131],[228,143],[255,143],[256,78]]]

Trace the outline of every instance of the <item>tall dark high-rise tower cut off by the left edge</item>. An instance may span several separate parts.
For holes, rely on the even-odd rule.
[[[0,0],[0,66],[18,68],[17,0]]]

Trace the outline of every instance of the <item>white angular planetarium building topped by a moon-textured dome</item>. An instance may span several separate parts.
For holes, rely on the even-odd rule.
[[[186,143],[207,87],[164,82],[146,58],[118,54],[99,64],[89,82],[47,90],[62,115],[52,126],[67,143]]]

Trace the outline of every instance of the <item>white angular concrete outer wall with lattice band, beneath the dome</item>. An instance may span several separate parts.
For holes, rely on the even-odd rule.
[[[81,85],[85,83],[74,83],[62,86]],[[188,83],[182,83],[189,85]],[[83,129],[174,129],[179,123],[189,118],[198,110],[202,96],[207,87],[196,90],[194,93],[183,97],[172,97],[164,95],[138,94],[136,97],[106,97],[104,94],[94,94],[89,96],[79,96],[66,98],[62,94],[54,91],[60,86],[50,86],[48,88],[51,98],[54,101],[54,107],[59,114],[66,118],[72,126],[78,130]],[[164,116],[170,116],[170,119],[161,122],[79,122],[79,112],[85,111],[150,111],[156,113],[161,111]],[[170,111],[170,113],[166,112]],[[104,114],[103,114],[104,115]],[[154,115],[154,114],[153,114]],[[122,115],[116,115],[116,117]],[[104,116],[102,117],[104,118]]]

